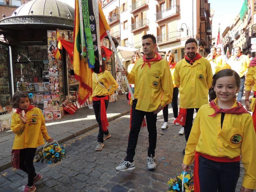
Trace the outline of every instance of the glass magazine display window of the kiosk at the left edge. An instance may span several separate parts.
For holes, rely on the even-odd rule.
[[[0,44],[0,105],[4,107],[11,100],[8,47]]]

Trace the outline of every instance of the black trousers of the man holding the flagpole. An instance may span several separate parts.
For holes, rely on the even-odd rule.
[[[133,162],[133,157],[135,155],[135,148],[137,145],[140,127],[144,116],[146,116],[147,120],[147,128],[148,128],[148,156],[155,156],[156,149],[156,116],[154,112],[145,112],[135,109],[137,104],[137,99],[133,100],[132,103],[132,126],[129,133],[128,139],[128,147],[127,147],[127,156],[124,158],[125,161]]]

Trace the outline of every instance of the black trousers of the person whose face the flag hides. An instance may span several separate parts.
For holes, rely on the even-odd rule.
[[[97,96],[97,97],[101,98],[101,97],[105,97],[105,96]],[[106,111],[107,111],[107,108],[108,108],[108,101],[109,100],[105,100]],[[95,117],[96,117],[96,121],[99,124],[98,142],[103,143],[104,134],[108,135],[108,131],[107,132],[102,131],[101,119],[100,119],[100,101],[92,101],[92,104],[93,104],[93,109],[94,109],[94,114],[95,114]]]

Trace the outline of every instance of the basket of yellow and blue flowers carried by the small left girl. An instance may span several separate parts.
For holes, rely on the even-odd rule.
[[[55,140],[54,140],[55,141]],[[36,162],[41,161],[47,164],[55,164],[61,161],[62,158],[66,157],[66,152],[63,146],[60,146],[57,141],[55,144],[49,145],[45,148],[45,143],[43,151],[39,152],[39,156],[36,157]]]

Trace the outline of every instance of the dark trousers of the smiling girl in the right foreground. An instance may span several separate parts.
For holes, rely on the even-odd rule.
[[[222,163],[199,157],[201,192],[235,192],[240,162]]]

